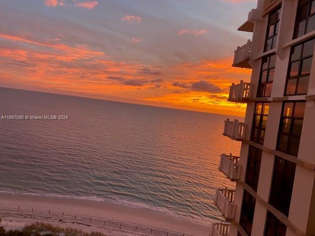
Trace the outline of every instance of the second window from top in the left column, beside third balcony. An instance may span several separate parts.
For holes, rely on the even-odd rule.
[[[269,97],[271,95],[276,58],[276,54],[262,58],[257,97]]]

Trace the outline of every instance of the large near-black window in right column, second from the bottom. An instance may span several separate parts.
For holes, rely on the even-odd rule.
[[[275,157],[269,203],[289,215],[296,164],[279,156]]]

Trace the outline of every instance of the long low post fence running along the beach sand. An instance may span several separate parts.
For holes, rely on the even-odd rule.
[[[152,235],[152,236],[192,236],[185,233],[155,228],[147,225],[135,224],[127,221],[118,221],[109,218],[95,217],[83,214],[74,214],[67,212],[52,211],[50,209],[37,210],[25,209],[21,207],[10,208],[0,207],[0,215],[7,217],[24,218],[30,216],[32,219],[48,220],[59,223],[73,223],[82,226],[97,226],[100,228],[110,228],[121,231],[136,232],[139,234]]]

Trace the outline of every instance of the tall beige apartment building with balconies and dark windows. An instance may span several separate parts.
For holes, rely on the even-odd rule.
[[[211,235],[315,235],[315,0],[258,0],[239,30],[253,34],[233,66],[252,77],[230,87],[228,100],[247,110],[244,122],[224,124],[242,146],[239,156],[221,155],[236,189],[217,190],[229,223]]]

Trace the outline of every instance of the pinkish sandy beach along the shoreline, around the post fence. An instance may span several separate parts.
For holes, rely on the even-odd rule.
[[[182,218],[169,216],[150,209],[125,207],[108,202],[96,202],[90,200],[50,198],[42,196],[0,193],[0,207],[10,207],[15,209],[17,209],[18,207],[24,209],[33,208],[34,210],[45,212],[48,212],[48,210],[50,209],[51,211],[90,215],[94,217],[102,217],[117,221],[126,221],[133,224],[141,224],[150,227],[165,229],[168,231],[185,233],[192,236],[209,236],[209,232],[211,230],[211,222],[209,222],[208,226],[205,226],[201,223],[199,224],[198,222],[190,221],[189,219],[184,217]],[[31,219],[23,219],[25,215],[23,215],[22,213],[20,217],[16,217],[16,213],[14,214],[15,215],[11,215],[10,217],[2,217],[3,222],[1,225],[6,224],[7,228],[14,228],[13,225],[21,226],[24,223],[27,224],[36,220],[36,217],[33,217]],[[40,219],[40,217],[37,217],[37,219]],[[53,223],[55,225],[61,224],[61,222],[57,220],[56,222],[54,222],[54,219],[49,219],[47,222]],[[81,229],[85,230],[84,225],[81,225],[80,227]],[[93,227],[90,227],[89,229],[89,231],[91,231]],[[95,229],[97,230],[97,228]],[[108,233],[106,231],[103,232]],[[111,232],[110,235],[120,235],[116,233]]]

